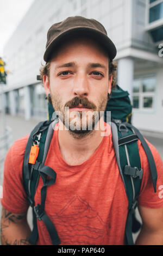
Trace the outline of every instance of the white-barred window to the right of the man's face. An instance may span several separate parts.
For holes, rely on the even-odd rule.
[[[135,79],[133,83],[133,108],[153,109],[156,77]]]

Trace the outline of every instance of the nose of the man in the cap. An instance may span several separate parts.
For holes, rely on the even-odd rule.
[[[73,95],[74,96],[87,96],[89,93],[89,84],[87,77],[84,74],[79,74],[74,78]]]

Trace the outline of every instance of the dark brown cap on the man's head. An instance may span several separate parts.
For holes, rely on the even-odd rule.
[[[104,26],[94,20],[86,19],[82,16],[68,17],[66,20],[55,23],[49,28],[47,33],[46,51],[43,59],[48,62],[51,59],[52,52],[56,47],[66,39],[73,39],[73,36],[84,35],[88,38],[95,39],[99,44],[108,51],[109,58],[112,60],[116,56],[116,47],[108,37]]]

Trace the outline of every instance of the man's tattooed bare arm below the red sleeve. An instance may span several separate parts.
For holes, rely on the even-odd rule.
[[[30,228],[27,223],[27,212],[12,214],[2,208],[1,244],[2,245],[30,245]]]

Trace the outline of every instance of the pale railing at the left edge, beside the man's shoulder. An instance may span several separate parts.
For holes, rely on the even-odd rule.
[[[2,178],[3,172],[3,164],[5,155],[7,154],[8,149],[10,148],[12,143],[12,129],[7,126],[5,127],[5,132],[1,136],[0,135],[0,179]]]

